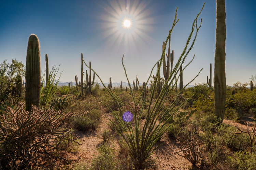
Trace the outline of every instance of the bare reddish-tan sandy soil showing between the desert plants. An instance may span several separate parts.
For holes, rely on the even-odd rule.
[[[113,119],[110,113],[105,113],[101,118],[101,123],[99,127],[95,131],[76,131],[74,132],[77,137],[79,138],[80,142],[83,143],[75,153],[73,153],[71,156],[72,159],[76,159],[77,162],[84,161],[87,165],[89,165],[92,161],[92,159],[98,155],[97,148],[102,145],[103,140],[99,138],[100,132],[102,132],[104,129],[110,129],[109,126],[106,124],[106,122],[109,122],[109,119]],[[226,120],[224,119],[223,123],[231,124],[233,126],[236,126],[238,124],[238,127],[241,128],[241,130],[246,131],[247,126],[244,123],[245,121],[253,121],[252,116],[245,115],[241,123]],[[113,137],[110,140],[111,143],[114,143],[114,149],[119,150],[119,146],[117,142],[115,141],[115,137]],[[157,143],[157,145],[162,144],[159,148],[157,148],[152,158],[156,160],[156,166],[155,168],[150,169],[157,169],[157,170],[187,170],[187,169],[200,169],[196,166],[192,166],[188,160],[185,158],[174,154],[175,151],[179,151],[179,145],[176,144],[175,139],[170,139],[168,135],[164,135],[160,142]],[[72,169],[72,167],[71,167]]]

